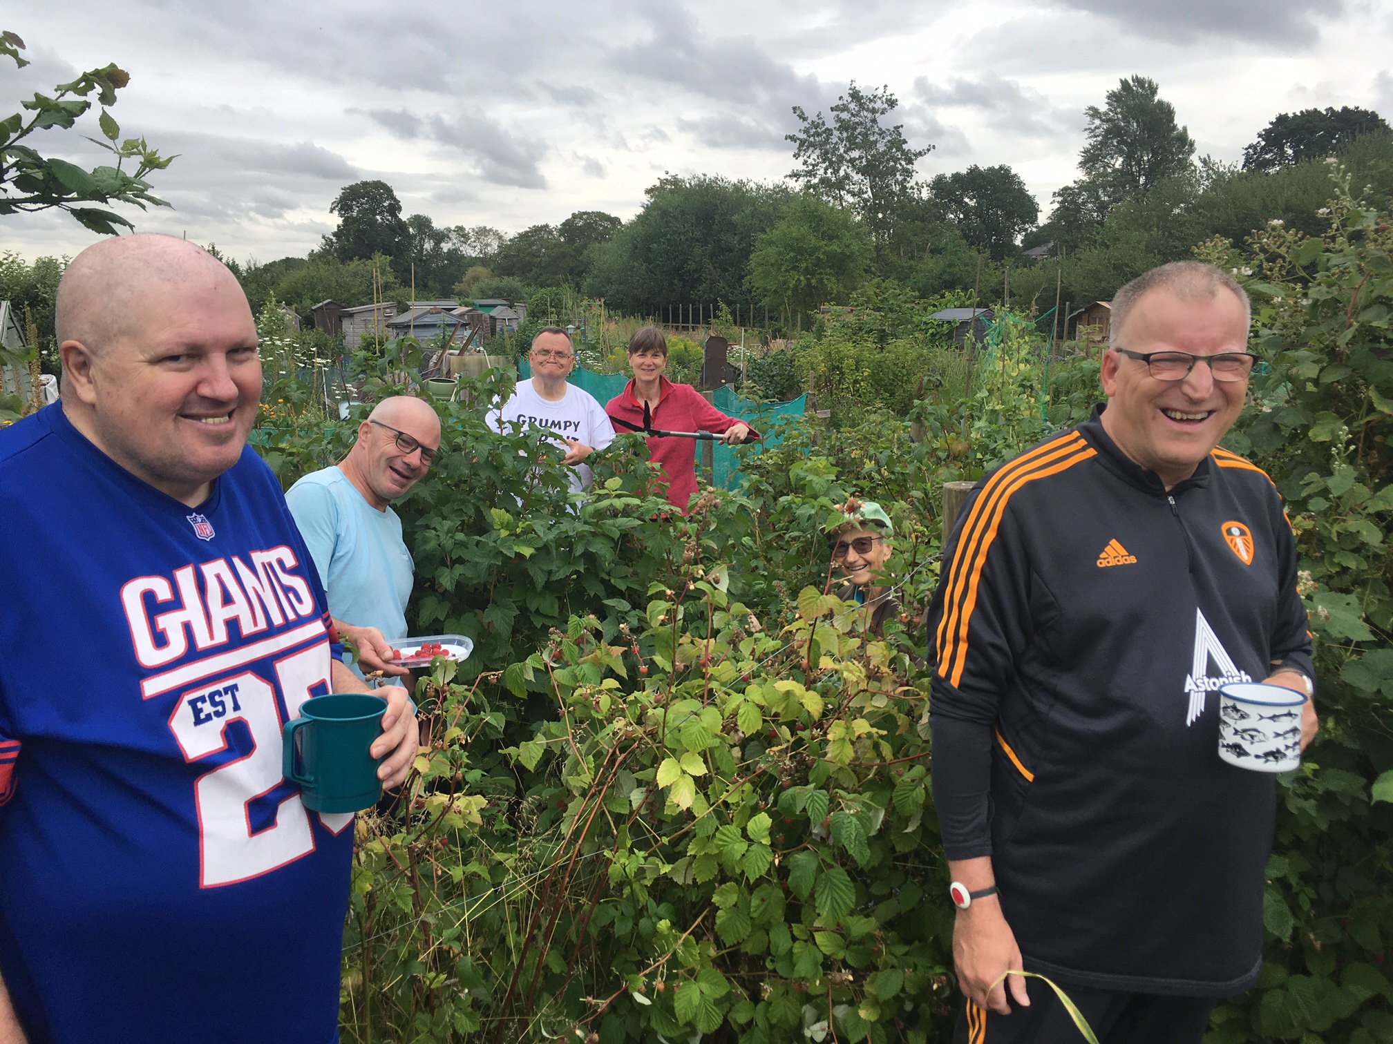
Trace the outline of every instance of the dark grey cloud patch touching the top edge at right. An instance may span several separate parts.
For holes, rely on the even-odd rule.
[[[1202,36],[1304,46],[1316,19],[1343,14],[1346,0],[1060,0],[1100,15],[1134,35],[1188,43]]]

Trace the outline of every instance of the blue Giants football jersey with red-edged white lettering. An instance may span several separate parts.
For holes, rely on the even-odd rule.
[[[352,817],[281,778],[325,604],[251,450],[188,508],[60,405],[0,432],[0,972],[31,1044],[337,1040]]]

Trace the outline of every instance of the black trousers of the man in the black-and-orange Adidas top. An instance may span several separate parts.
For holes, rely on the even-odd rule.
[[[1084,1034],[1055,991],[1039,979],[1025,983],[1031,1006],[1013,1002],[1010,1015],[968,1001],[953,1030],[953,1044],[1082,1044]],[[1063,983],[1060,988],[1088,1019],[1099,1044],[1199,1044],[1215,1006],[1211,997],[1124,994]]]

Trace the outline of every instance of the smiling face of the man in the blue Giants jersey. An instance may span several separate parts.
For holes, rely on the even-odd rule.
[[[121,315],[109,340],[60,344],[74,426],[128,472],[191,505],[237,464],[262,387],[247,295],[227,269],[206,262],[191,258],[187,277],[134,287],[111,305]]]

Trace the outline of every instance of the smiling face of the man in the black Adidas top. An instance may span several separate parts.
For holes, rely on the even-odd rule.
[[[1156,287],[1137,298],[1117,345],[1134,352],[1243,352],[1248,324],[1243,302],[1227,288],[1204,301]],[[1194,475],[1219,445],[1248,393],[1247,380],[1215,380],[1208,363],[1197,363],[1184,380],[1158,380],[1145,362],[1116,351],[1103,355],[1099,376],[1107,394],[1103,430],[1166,489]]]

